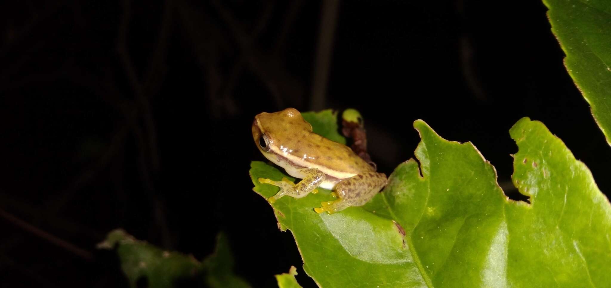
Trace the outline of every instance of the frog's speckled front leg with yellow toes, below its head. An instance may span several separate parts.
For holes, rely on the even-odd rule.
[[[317,192],[316,187],[323,183],[324,181],[324,173],[318,169],[306,168],[297,170],[299,174],[303,175],[302,180],[299,183],[295,184],[291,181],[273,181],[269,179],[259,178],[259,182],[272,184],[274,186],[280,187],[280,191],[269,197],[269,203],[274,203],[280,197],[287,195],[293,198],[301,198],[305,197],[305,195],[310,192]],[[283,179],[285,180],[285,179]]]

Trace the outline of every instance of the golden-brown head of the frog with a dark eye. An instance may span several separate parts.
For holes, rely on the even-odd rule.
[[[295,108],[287,108],[275,113],[261,113],[252,122],[252,138],[265,158],[272,157],[291,140],[295,132],[307,130],[312,132],[312,125],[305,122],[301,113]]]

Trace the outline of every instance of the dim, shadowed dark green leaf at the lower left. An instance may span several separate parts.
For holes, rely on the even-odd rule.
[[[250,287],[243,279],[234,275],[233,259],[227,239],[219,234],[216,251],[205,261],[199,262],[192,255],[175,251],[164,251],[145,241],[136,240],[122,229],[108,233],[106,240],[97,245],[100,249],[117,248],[121,268],[131,287],[147,279],[147,287],[175,287],[178,281],[195,281],[204,276],[209,287]],[[229,285],[229,286],[227,286]]]

